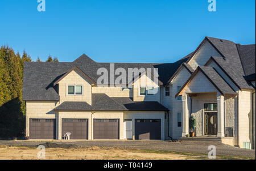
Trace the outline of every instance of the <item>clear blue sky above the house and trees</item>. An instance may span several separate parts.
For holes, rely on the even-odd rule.
[[[97,62],[175,62],[205,36],[255,44],[255,1],[216,0],[0,1],[0,45],[71,62],[85,53]]]

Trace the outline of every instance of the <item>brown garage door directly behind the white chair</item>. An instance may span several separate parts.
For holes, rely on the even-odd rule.
[[[88,119],[62,119],[62,136],[70,132],[70,139],[88,139]]]

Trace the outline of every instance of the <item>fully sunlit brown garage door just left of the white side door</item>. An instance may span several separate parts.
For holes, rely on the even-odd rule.
[[[93,139],[119,139],[119,119],[93,119]]]

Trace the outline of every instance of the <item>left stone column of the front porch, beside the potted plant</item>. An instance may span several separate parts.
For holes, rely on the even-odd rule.
[[[188,97],[187,93],[182,95],[182,136],[188,134]]]

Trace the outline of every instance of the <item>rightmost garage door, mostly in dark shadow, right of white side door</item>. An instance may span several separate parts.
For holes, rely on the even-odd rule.
[[[135,139],[160,139],[160,119],[135,119]]]

